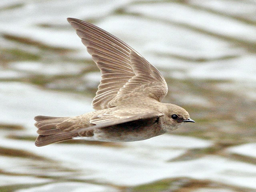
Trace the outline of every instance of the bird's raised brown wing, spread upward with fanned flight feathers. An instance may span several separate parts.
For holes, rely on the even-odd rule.
[[[102,73],[92,101],[94,109],[118,105],[122,95],[132,92],[157,101],[167,93],[167,84],[159,71],[138,52],[110,33],[82,20],[68,18],[77,35]]]

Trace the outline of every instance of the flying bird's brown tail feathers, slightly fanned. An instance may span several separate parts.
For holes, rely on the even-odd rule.
[[[37,147],[42,147],[52,143],[72,139],[75,136],[74,133],[65,132],[62,129],[57,128],[57,124],[60,125],[68,118],[69,117],[36,116],[34,118],[36,120],[35,126],[38,128],[37,133],[39,136],[36,138],[35,145]],[[61,124],[62,128],[69,126],[70,124],[64,122]]]

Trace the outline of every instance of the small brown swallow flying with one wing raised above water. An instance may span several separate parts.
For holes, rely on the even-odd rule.
[[[188,112],[162,103],[160,72],[128,44],[93,24],[67,18],[101,72],[94,111],[74,117],[36,116],[37,147],[71,140],[146,140],[193,122]]]

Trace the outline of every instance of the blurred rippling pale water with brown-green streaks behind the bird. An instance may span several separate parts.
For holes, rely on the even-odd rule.
[[[163,74],[195,124],[149,140],[38,148],[34,116],[92,111],[100,71],[66,18]],[[255,0],[1,0],[1,192],[255,192]]]

